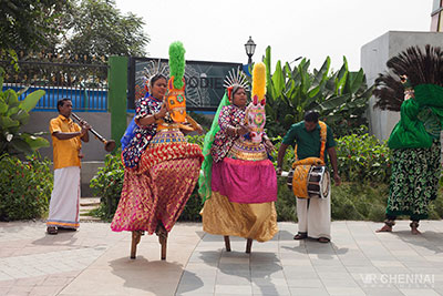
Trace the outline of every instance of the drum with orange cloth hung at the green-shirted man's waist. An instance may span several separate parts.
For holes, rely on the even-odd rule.
[[[327,198],[330,191],[330,174],[323,165],[297,165],[290,170],[287,185],[300,198]]]

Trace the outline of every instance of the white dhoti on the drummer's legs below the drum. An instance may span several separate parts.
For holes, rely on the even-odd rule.
[[[327,198],[297,197],[298,232],[308,237],[331,239],[331,192]]]

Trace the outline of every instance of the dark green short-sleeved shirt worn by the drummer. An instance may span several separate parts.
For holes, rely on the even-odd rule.
[[[307,157],[319,157],[320,156],[320,125],[317,124],[316,129],[308,132],[305,127],[305,121],[300,121],[291,125],[289,131],[284,137],[284,144],[291,145],[292,147],[297,144],[297,156],[299,160]],[[326,149],[324,149],[324,162],[328,163],[327,150],[336,146],[333,140],[332,130],[327,125],[326,134]]]

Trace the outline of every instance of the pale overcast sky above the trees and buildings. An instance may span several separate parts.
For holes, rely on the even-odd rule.
[[[388,31],[430,31],[432,0],[116,0],[121,12],[142,17],[151,42],[147,57],[166,58],[182,41],[186,60],[247,63],[245,43],[261,61],[271,47],[277,60],[299,57],[332,69],[348,60],[360,69],[360,49]],[[296,65],[298,62],[291,63]]]

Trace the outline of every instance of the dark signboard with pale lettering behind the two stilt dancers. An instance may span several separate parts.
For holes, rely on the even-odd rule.
[[[146,78],[153,72],[166,72],[168,76],[168,60],[152,58],[131,58],[128,72],[128,106],[133,108],[135,100],[144,96]],[[188,110],[214,111],[220,102],[225,88],[223,82],[228,72],[240,68],[240,63],[186,61],[186,108]]]

